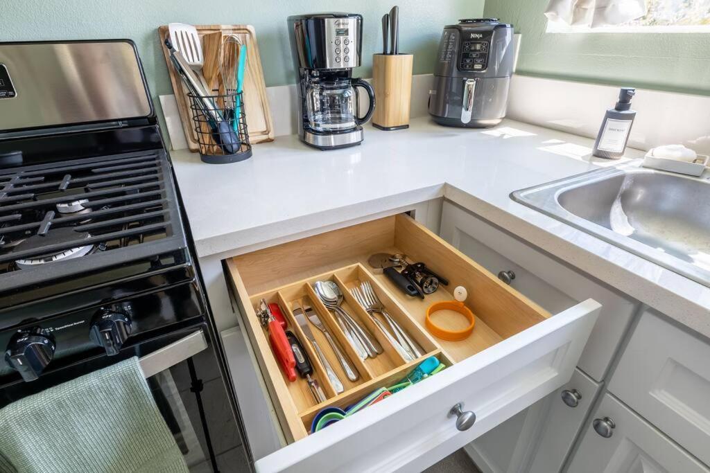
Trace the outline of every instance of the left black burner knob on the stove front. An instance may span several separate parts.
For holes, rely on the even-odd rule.
[[[5,361],[20,372],[22,379],[34,381],[52,361],[55,348],[51,335],[33,327],[13,335],[5,351]]]

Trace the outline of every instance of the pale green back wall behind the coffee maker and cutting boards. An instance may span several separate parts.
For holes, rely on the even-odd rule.
[[[266,85],[295,82],[286,17],[317,11],[364,16],[364,65],[381,51],[381,18],[391,2],[376,0],[0,0],[0,41],[131,38],[138,44],[153,96],[172,93],[157,28],[171,21],[251,24],[261,52]],[[416,55],[415,74],[432,72],[444,25],[480,16],[484,0],[398,0],[400,51]],[[156,100],[157,102],[157,100]],[[156,106],[159,106],[156,104]]]

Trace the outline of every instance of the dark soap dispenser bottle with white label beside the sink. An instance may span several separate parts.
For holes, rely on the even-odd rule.
[[[631,99],[636,94],[636,89],[622,87],[619,91],[619,101],[614,108],[609,108],[601,122],[599,135],[596,136],[592,155],[616,160],[626,150],[628,136],[631,133],[633,119],[636,112],[631,110]]]

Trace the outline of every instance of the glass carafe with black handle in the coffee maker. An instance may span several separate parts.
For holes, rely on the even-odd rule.
[[[362,87],[370,96],[370,106],[363,117],[360,117],[360,101],[355,87]],[[311,130],[339,133],[352,130],[370,119],[375,109],[375,91],[362,79],[312,79],[305,102]]]

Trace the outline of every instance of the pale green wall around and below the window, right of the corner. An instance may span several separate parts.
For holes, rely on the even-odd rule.
[[[487,0],[523,33],[518,74],[710,95],[709,33],[545,33],[549,0]]]

